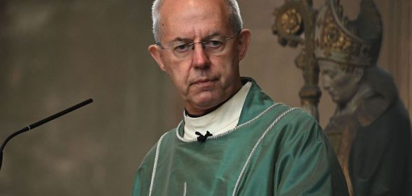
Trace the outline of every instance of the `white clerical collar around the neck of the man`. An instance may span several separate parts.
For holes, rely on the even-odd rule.
[[[212,135],[220,135],[235,128],[239,122],[243,103],[245,103],[246,96],[248,96],[250,86],[252,86],[252,82],[247,82],[226,103],[204,116],[192,118],[183,112],[185,118],[183,138],[185,140],[197,139],[198,135],[195,134],[197,131],[203,135],[206,131]]]

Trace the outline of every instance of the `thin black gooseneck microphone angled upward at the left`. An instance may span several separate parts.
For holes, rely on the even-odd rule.
[[[43,125],[44,123],[47,123],[48,121],[52,121],[54,119],[59,118],[60,116],[63,116],[64,114],[67,114],[69,112],[73,112],[74,110],[79,109],[80,107],[83,107],[87,104],[92,103],[93,100],[90,98],[88,100],[83,101],[82,103],[78,103],[77,105],[73,105],[72,107],[67,108],[66,110],[63,110],[62,112],[58,112],[56,114],[53,114],[52,116],[48,116],[47,118],[41,120],[41,121],[37,121],[36,123],[32,123],[31,125],[24,127],[20,130],[17,130],[15,133],[13,133],[12,135],[9,135],[6,140],[4,140],[3,144],[1,144],[0,146],[0,170],[1,170],[1,165],[3,164],[3,149],[4,146],[6,146],[7,142],[9,140],[11,140],[11,138],[15,137],[16,135],[19,135],[20,133],[24,133],[28,130],[32,130],[38,126]]]

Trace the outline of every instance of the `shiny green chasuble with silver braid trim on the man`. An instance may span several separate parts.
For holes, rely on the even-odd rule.
[[[313,117],[274,103],[252,81],[238,126],[206,142],[182,121],[138,168],[133,195],[348,195],[339,163]]]

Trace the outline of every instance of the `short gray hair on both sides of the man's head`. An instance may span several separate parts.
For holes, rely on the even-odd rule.
[[[155,36],[156,43],[160,42],[161,35],[161,22],[160,22],[160,7],[162,7],[164,0],[155,0],[152,5],[152,31]],[[206,0],[202,0],[206,1]],[[227,6],[227,13],[229,13],[229,24],[232,25],[234,32],[241,31],[243,29],[243,21],[241,17],[241,10],[236,0],[224,0]]]

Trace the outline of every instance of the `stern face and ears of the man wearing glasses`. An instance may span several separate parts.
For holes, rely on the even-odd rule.
[[[160,13],[162,45],[176,40],[199,43],[209,36],[236,33],[222,0],[164,0]],[[184,58],[157,45],[150,45],[149,51],[178,89],[187,112],[203,115],[241,89],[239,61],[246,55],[249,41],[250,32],[243,30],[227,41],[228,48],[221,54],[209,54],[200,44]]]

